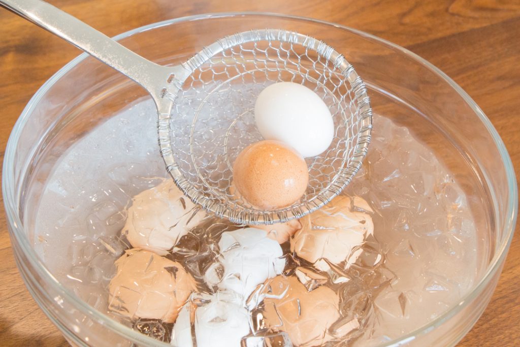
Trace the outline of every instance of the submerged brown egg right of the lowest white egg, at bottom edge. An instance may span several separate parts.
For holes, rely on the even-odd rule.
[[[332,289],[320,286],[309,292],[294,276],[277,276],[266,285],[274,297],[264,300],[267,327],[287,332],[295,346],[315,346],[332,340],[328,329],[340,318],[339,298]]]

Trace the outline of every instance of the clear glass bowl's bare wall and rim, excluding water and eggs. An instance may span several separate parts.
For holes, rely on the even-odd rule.
[[[116,40],[155,62],[177,64],[219,37],[257,28],[302,32],[344,54],[365,80],[374,113],[408,127],[464,190],[479,240],[475,252],[480,262],[468,269],[476,274],[471,290],[427,325],[380,345],[456,344],[491,298],[516,220],[516,179],[495,128],[474,101],[430,63],[402,47],[337,24],[274,14],[212,14],[147,25]],[[138,86],[83,54],[38,90],[9,138],[3,194],[17,265],[35,301],[73,345],[168,345],[81,300],[64,284],[65,274],[56,270],[56,264],[70,261],[67,253],[41,256],[46,237],[59,236],[67,242],[69,236],[41,235],[35,221],[46,182],[67,149],[118,111],[147,98]],[[75,178],[92,184],[89,177]]]

